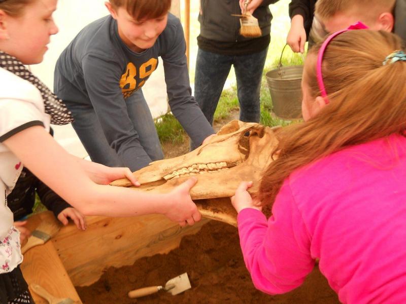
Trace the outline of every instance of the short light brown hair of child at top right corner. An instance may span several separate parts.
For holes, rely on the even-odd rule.
[[[376,18],[385,12],[392,12],[396,0],[319,0],[316,2],[315,14],[328,19],[337,13],[357,9],[365,17]],[[368,9],[365,9],[368,8]]]

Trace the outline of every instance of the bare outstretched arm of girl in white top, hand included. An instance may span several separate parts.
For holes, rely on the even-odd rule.
[[[24,129],[3,142],[24,165],[60,197],[85,215],[135,216],[161,213],[181,224],[200,220],[189,189],[190,178],[168,194],[96,184],[41,126]],[[112,169],[115,171],[114,169]],[[111,176],[118,177],[117,174]],[[122,173],[119,177],[124,177]]]

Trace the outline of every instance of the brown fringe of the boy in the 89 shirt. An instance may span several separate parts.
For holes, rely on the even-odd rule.
[[[153,19],[166,14],[171,8],[172,0],[109,0],[117,10],[125,8],[127,13],[136,20]]]

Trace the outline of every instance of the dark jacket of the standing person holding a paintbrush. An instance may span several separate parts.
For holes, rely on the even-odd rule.
[[[258,19],[262,36],[269,35],[272,14],[268,6],[278,0],[263,0],[254,11]],[[200,0],[202,14],[199,14],[200,36],[221,42],[238,42],[250,40],[240,35],[240,18],[231,14],[241,14],[238,0]]]

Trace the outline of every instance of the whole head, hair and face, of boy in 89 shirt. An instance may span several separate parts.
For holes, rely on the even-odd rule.
[[[151,48],[165,29],[171,0],[110,0],[106,7],[117,20],[123,42],[143,50]]]

